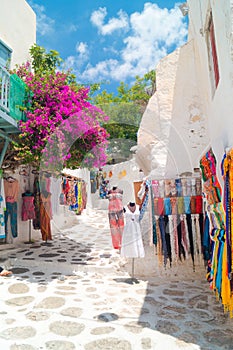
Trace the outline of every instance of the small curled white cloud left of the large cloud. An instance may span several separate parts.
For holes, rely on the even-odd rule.
[[[110,18],[110,20],[104,24],[105,17],[107,16],[106,7],[100,7],[98,10],[92,12],[91,23],[98,28],[98,31],[102,35],[110,35],[119,29],[128,29],[128,15],[120,10],[118,18]]]

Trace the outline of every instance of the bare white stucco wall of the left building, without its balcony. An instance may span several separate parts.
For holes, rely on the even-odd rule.
[[[16,64],[22,64],[29,59],[29,49],[36,42],[36,15],[25,0],[0,1],[0,41],[4,47],[6,46],[11,51],[10,68],[14,68]],[[29,221],[23,222],[21,220],[22,193],[25,191],[25,185],[27,185],[27,189],[32,190],[33,175],[30,174],[24,178],[19,175],[19,169],[10,175],[13,175],[20,184],[17,201],[19,234],[14,242],[27,241],[30,230],[31,238],[38,239],[41,236],[40,232],[33,230]],[[11,241],[12,239],[9,242]]]

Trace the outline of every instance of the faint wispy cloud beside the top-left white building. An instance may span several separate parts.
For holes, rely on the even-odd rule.
[[[36,13],[36,29],[37,32],[44,36],[54,31],[55,21],[45,14],[45,7],[29,1],[30,6]]]

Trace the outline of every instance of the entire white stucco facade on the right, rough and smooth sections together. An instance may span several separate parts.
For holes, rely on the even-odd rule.
[[[139,129],[136,159],[152,178],[193,172],[210,146],[219,165],[233,145],[233,1],[187,4],[188,42],[157,65],[157,91]],[[211,12],[220,76],[216,89],[208,56]]]

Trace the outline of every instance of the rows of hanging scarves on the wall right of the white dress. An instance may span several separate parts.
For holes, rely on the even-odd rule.
[[[160,264],[202,256],[204,232],[200,177],[152,180],[152,241]]]

